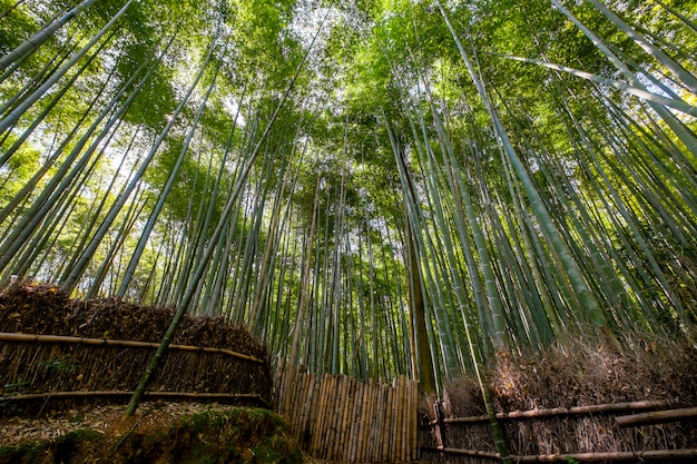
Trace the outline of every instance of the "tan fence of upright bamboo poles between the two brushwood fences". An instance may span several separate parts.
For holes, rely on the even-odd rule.
[[[284,372],[275,408],[314,457],[345,463],[394,463],[419,458],[419,384],[392,384],[345,375]]]

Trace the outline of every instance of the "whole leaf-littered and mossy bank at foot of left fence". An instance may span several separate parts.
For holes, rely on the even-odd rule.
[[[267,409],[147,402],[128,419],[124,411],[91,405],[0,417],[0,464],[302,462],[287,424]]]

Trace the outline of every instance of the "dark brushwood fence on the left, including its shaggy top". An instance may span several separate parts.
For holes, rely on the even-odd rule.
[[[174,315],[50,285],[0,290],[0,414],[128,401]],[[272,386],[266,348],[244,327],[186,315],[146,397],[266,405]]]

